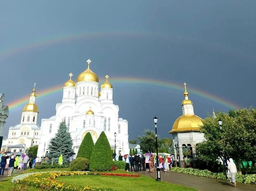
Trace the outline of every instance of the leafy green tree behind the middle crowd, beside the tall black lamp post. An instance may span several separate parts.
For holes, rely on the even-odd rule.
[[[144,129],[144,133],[145,135],[138,136],[138,139],[140,141],[140,149],[146,153],[148,151],[155,152],[155,132],[150,129]],[[159,136],[158,138],[160,139]]]

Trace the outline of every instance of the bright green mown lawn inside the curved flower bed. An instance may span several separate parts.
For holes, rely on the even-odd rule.
[[[115,190],[150,190],[150,191],[196,191],[196,189],[174,185],[164,181],[156,181],[153,178],[141,177],[118,177],[118,176],[61,176],[55,178],[60,182],[74,184],[76,186],[88,186],[91,188],[112,188]]]

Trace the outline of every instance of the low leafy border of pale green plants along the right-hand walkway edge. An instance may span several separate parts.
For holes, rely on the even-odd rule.
[[[183,174],[190,174],[190,175],[226,180],[225,173],[212,173],[209,170],[199,170],[196,168],[173,167],[171,169],[171,171],[176,172],[176,173],[183,173]],[[236,181],[244,182],[244,183],[248,183],[248,184],[250,184],[250,183],[256,184],[256,174],[242,175],[242,174],[236,173]]]

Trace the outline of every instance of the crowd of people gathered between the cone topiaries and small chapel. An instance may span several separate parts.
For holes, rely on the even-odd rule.
[[[154,156],[149,152],[145,155],[142,154],[141,156],[140,154],[137,155],[137,153],[132,154],[131,156],[128,154],[124,156],[119,155],[118,160],[126,162],[125,170],[127,172],[148,171],[150,173],[154,173],[154,168],[157,167],[157,160],[159,162],[160,170],[163,170],[164,172],[170,172],[174,162],[173,157],[169,155],[162,156],[160,154],[159,156]]]

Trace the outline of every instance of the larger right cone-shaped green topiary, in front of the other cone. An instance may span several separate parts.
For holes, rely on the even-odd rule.
[[[106,134],[102,132],[93,147],[89,168],[90,171],[107,171],[112,164],[111,147]]]

